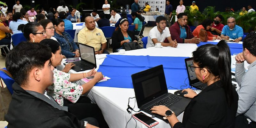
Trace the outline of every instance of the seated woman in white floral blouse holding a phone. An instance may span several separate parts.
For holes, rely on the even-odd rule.
[[[52,39],[44,39],[40,44],[48,45],[52,50],[51,64],[53,67],[57,67],[61,64],[62,54],[60,44]],[[52,96],[52,98],[60,106],[68,106],[68,111],[78,119],[84,119],[87,117],[94,117],[97,119],[100,128],[108,128],[100,108],[96,104],[92,104],[88,97],[81,96],[84,93],[90,91],[92,87],[100,80],[102,80],[103,75],[101,72],[95,71],[93,68],[87,73],[69,74],[68,72],[74,64],[66,66],[63,71],[59,71],[56,68],[53,69],[53,84],[47,88],[47,94]],[[78,85],[76,83],[71,83],[87,76],[94,76],[89,82]]]

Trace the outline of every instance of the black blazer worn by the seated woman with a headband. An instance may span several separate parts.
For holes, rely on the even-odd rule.
[[[136,40],[135,35],[133,34],[132,31],[127,30],[127,33],[131,37],[132,41]],[[121,47],[121,41],[123,40],[124,40],[124,35],[121,32],[121,29],[114,31],[112,35],[113,52],[116,52],[116,49]]]

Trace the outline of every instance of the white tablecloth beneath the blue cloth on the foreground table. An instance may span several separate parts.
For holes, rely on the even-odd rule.
[[[155,48],[150,47],[147,49],[138,49],[133,51],[126,51],[123,55],[149,55],[149,56],[176,56],[176,57],[191,57],[192,52],[197,48],[196,44],[178,44],[177,48],[172,47],[163,47],[163,48]],[[111,54],[120,54],[118,52]],[[98,55],[96,55],[98,56]],[[104,59],[96,59],[97,68],[103,62]],[[57,67],[59,70],[64,68],[64,65],[60,65]],[[89,70],[85,71],[88,72]],[[76,73],[74,70],[70,70],[70,73]],[[104,73],[103,73],[104,75]],[[80,80],[80,84],[83,82]],[[168,90],[168,92],[174,93],[176,90]],[[103,116],[105,117],[109,127],[111,128],[124,128],[127,121],[131,118],[131,114],[129,114],[126,109],[128,105],[128,98],[134,97],[134,90],[127,88],[113,88],[113,87],[99,87],[94,86],[88,97],[98,106],[100,107]],[[135,99],[130,100],[130,106],[133,108],[135,104],[134,110],[138,111],[137,103],[135,103]],[[134,112],[133,112],[134,114]],[[183,113],[178,116],[178,119],[182,121]],[[169,124],[166,124],[164,121],[154,118],[159,122],[155,126],[155,128],[170,128]],[[128,123],[127,128],[134,128],[135,120],[131,119]],[[144,124],[137,121],[138,128],[147,128]]]

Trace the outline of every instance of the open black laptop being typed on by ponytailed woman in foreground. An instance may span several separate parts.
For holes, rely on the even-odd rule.
[[[190,102],[189,99],[168,93],[163,65],[132,74],[132,84],[138,108],[150,115],[155,115],[166,123],[168,123],[167,119],[151,113],[149,109],[153,106],[165,105],[178,116]]]

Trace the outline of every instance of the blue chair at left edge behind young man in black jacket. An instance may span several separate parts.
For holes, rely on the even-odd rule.
[[[3,70],[4,69],[4,70]],[[8,90],[11,92],[11,94],[13,93],[12,90],[12,84],[14,83],[14,80],[10,77],[12,76],[7,70],[6,68],[0,69],[0,78],[3,79],[4,84],[6,85],[6,87],[8,88]],[[5,72],[5,70],[7,72]],[[9,75],[8,75],[9,74]]]

